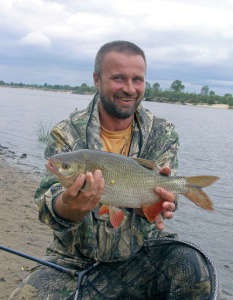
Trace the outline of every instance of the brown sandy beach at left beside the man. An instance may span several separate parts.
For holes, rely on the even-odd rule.
[[[41,258],[52,234],[38,220],[33,202],[39,180],[10,166],[0,155],[0,245]],[[35,265],[33,261],[0,250],[0,299],[8,299]]]

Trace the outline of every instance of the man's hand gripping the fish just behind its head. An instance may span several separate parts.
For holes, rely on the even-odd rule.
[[[82,189],[85,183],[85,187]],[[104,178],[100,170],[80,174],[75,182],[55,201],[56,213],[64,219],[78,222],[88,211],[99,204],[104,190]]]

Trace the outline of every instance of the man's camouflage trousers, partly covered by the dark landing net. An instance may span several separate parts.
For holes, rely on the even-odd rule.
[[[23,299],[20,295],[51,300],[218,299],[217,273],[210,258],[192,244],[170,239],[146,241],[131,259],[98,263],[77,274],[79,278],[72,278],[38,267],[11,299]]]

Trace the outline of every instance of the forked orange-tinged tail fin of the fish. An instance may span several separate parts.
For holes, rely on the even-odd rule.
[[[188,190],[183,193],[185,197],[194,202],[197,206],[200,206],[207,210],[213,210],[212,202],[205,192],[202,191],[202,187],[206,187],[214,183],[217,176],[193,176],[186,177],[186,185]]]

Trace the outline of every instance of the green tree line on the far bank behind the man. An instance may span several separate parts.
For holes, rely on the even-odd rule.
[[[52,85],[44,83],[38,84],[25,84],[25,83],[6,83],[0,80],[0,86],[18,87],[18,88],[34,88],[43,90],[58,90],[58,91],[69,91],[75,94],[94,94],[96,88],[94,86],[88,86],[86,83],[82,83],[80,86],[70,85]],[[146,82],[145,89],[145,100],[155,102],[168,102],[168,103],[182,103],[182,104],[226,104],[229,108],[233,108],[233,96],[230,93],[224,96],[215,94],[214,91],[210,90],[207,85],[204,85],[200,93],[188,93],[184,92],[185,86],[181,80],[174,80],[169,89],[162,90],[160,84],[155,82],[150,84]]]

